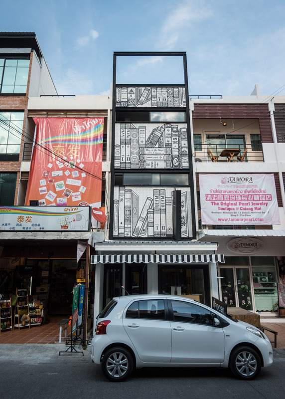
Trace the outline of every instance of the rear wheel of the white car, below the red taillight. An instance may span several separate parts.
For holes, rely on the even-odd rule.
[[[134,368],[134,360],[125,348],[111,348],[103,356],[102,371],[108,380],[121,382],[126,380]]]

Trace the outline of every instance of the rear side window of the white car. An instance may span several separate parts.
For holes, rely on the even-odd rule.
[[[127,312],[126,318],[165,320],[163,299],[133,302]]]

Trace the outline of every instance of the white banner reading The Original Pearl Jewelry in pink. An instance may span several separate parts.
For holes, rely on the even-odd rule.
[[[280,224],[274,175],[199,174],[202,224]]]

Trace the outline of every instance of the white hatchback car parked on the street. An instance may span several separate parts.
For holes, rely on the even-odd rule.
[[[273,363],[269,339],[242,321],[173,295],[114,298],[97,317],[91,358],[111,381],[142,367],[229,367],[253,380]]]

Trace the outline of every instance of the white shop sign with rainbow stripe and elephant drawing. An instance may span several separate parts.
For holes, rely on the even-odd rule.
[[[0,206],[0,231],[90,231],[90,206]]]

